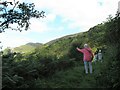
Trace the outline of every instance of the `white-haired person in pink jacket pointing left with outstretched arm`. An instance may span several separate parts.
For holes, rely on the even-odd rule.
[[[92,74],[92,60],[91,56],[93,57],[92,49],[88,46],[88,44],[84,44],[84,48],[76,48],[79,52],[83,53],[83,61],[84,61],[84,68],[85,68],[85,73],[88,74],[88,64],[89,64],[89,70],[90,74]]]

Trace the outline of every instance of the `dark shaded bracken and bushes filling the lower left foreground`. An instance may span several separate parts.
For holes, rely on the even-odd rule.
[[[17,58],[16,58],[17,57]],[[27,58],[27,60],[22,60]],[[3,56],[3,88],[27,88],[33,86],[36,79],[47,78],[54,73],[74,66],[73,60],[53,61],[51,57],[34,57],[10,54]]]

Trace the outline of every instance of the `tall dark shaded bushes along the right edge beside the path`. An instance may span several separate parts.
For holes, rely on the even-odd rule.
[[[115,18],[109,18],[106,22],[105,41],[107,42],[107,53],[105,58],[106,66],[102,67],[99,77],[99,85],[104,87],[119,88],[120,87],[120,17],[119,14]]]

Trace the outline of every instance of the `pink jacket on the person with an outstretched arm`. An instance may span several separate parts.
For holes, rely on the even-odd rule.
[[[83,48],[83,49],[77,48],[77,50],[79,52],[82,52],[84,54],[83,61],[91,61],[91,53],[89,51],[87,51],[86,49],[92,52],[91,48]],[[93,55],[93,53],[92,53],[92,55]]]

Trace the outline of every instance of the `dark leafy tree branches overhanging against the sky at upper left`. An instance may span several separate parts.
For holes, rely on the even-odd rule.
[[[44,11],[39,12],[35,10],[34,3],[19,3],[14,2],[0,2],[0,33],[5,32],[6,29],[19,30],[20,32],[28,30],[29,20],[31,18],[44,18]],[[17,27],[11,27],[12,24],[17,24]]]

